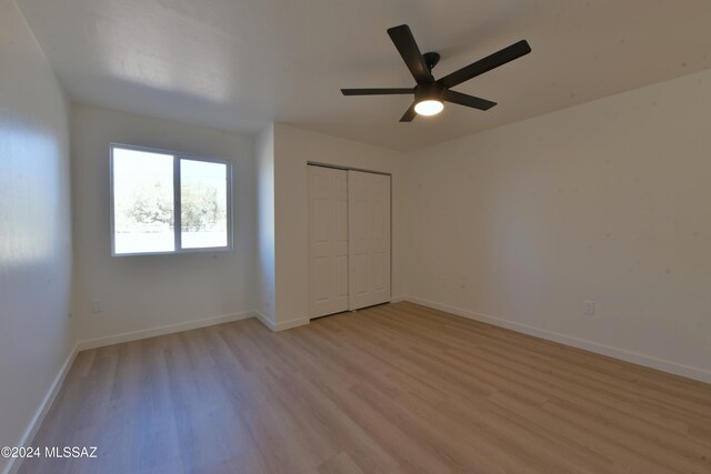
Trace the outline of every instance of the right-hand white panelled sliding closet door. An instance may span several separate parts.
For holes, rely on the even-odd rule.
[[[349,310],[390,301],[390,177],[348,172]]]

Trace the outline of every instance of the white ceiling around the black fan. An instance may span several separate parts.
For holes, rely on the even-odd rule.
[[[79,102],[254,133],[271,121],[409,151],[711,68],[708,0],[17,0]],[[408,23],[435,78],[527,39],[532,53],[399,123],[411,87],[385,30]]]

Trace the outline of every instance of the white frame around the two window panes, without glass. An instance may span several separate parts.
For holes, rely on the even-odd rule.
[[[133,252],[133,253],[117,253],[116,252],[116,230],[114,230],[114,194],[113,194],[113,150],[114,149],[123,149],[123,150],[134,150],[142,151],[147,153],[157,153],[157,154],[170,154],[173,157],[173,238],[174,238],[174,250],[172,251],[162,251],[162,252]],[[181,222],[181,177],[180,177],[180,161],[200,161],[207,163],[220,163],[227,167],[227,245],[226,246],[203,246],[203,248],[190,248],[182,249],[182,222]],[[109,143],[109,220],[110,220],[110,231],[111,231],[111,256],[146,256],[146,255],[174,255],[174,254],[184,254],[184,253],[204,253],[204,252],[230,252],[233,250],[233,240],[234,240],[234,229],[233,229],[233,219],[232,219],[232,160],[226,160],[220,158],[212,158],[206,155],[196,155],[192,153],[183,153],[173,150],[166,150],[160,148],[152,147],[140,147],[124,143]]]

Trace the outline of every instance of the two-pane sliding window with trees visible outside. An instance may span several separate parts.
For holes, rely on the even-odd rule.
[[[113,255],[232,246],[229,161],[111,144]]]

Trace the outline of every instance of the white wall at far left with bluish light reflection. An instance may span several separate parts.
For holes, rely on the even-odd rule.
[[[0,0],[0,446],[23,442],[72,353],[70,295],[68,104],[17,6]]]

